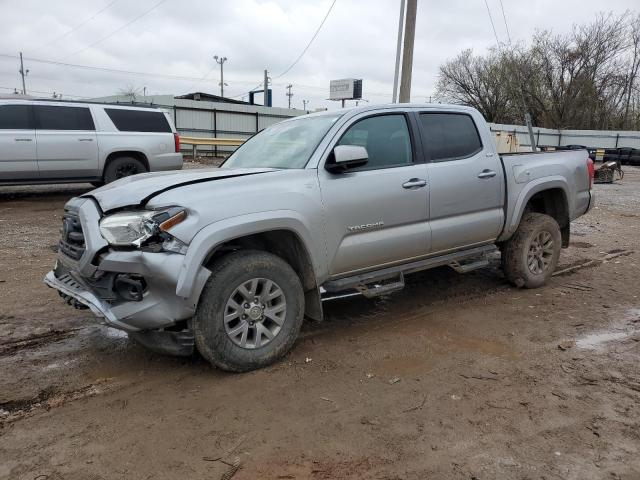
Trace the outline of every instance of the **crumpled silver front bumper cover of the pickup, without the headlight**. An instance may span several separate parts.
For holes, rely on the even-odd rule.
[[[82,224],[84,252],[77,260],[59,251],[56,267],[44,283],[63,296],[86,305],[107,325],[128,332],[160,330],[191,318],[199,293],[210,275],[202,267],[190,297],[176,295],[185,256],[171,252],[113,250],[99,233],[100,211],[91,199],[73,199],[67,204]],[[144,279],[138,300],[123,298],[114,287],[119,275]]]

